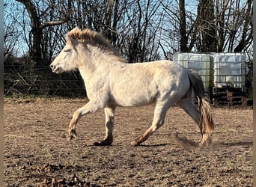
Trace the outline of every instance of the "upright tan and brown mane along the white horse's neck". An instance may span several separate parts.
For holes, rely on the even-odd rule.
[[[108,52],[109,54],[115,55],[121,58],[119,52],[109,43],[102,34],[91,31],[91,29],[86,28],[85,30],[81,30],[79,28],[74,28],[72,31],[67,33],[66,40],[67,44],[71,44],[70,37],[75,40],[78,40],[81,43],[89,43],[91,46],[98,47],[103,52]],[[120,59],[125,62],[124,58]]]

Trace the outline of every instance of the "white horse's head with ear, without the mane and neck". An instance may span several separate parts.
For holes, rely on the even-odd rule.
[[[67,36],[67,44],[58,54],[50,67],[53,73],[63,73],[74,70],[78,67],[78,53],[77,47],[79,41],[73,37]]]

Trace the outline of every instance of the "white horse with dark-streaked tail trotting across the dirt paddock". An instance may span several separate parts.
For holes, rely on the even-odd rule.
[[[115,108],[155,103],[149,129],[131,142],[139,145],[164,123],[166,111],[175,103],[189,114],[201,130],[200,145],[211,142],[214,129],[210,104],[204,96],[201,77],[172,61],[127,64],[109,42],[95,31],[74,28],[67,33],[67,44],[52,61],[54,73],[78,69],[85,82],[89,102],[75,111],[68,127],[68,140],[76,136],[79,118],[104,108],[106,137],[94,145],[113,141]],[[194,104],[198,99],[198,108]]]

